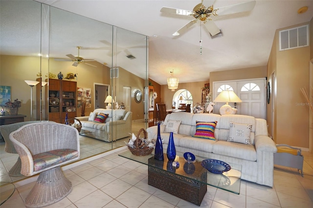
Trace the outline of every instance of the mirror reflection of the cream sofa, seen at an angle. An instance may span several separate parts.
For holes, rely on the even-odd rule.
[[[132,112],[123,109],[97,108],[93,112],[108,114],[104,123],[88,121],[89,116],[76,117],[82,123],[82,129],[91,131],[96,139],[111,142],[130,136],[132,132]]]

